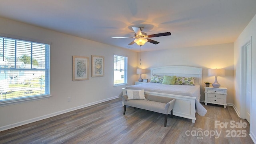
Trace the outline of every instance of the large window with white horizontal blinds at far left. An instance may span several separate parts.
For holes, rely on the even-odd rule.
[[[0,37],[0,104],[49,96],[50,45]]]

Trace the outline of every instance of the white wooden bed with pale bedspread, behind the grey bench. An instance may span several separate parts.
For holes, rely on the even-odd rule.
[[[194,86],[149,82],[140,85],[127,86],[122,89],[122,94],[125,95],[126,90],[144,90],[145,94],[175,98],[176,102],[173,109],[173,115],[191,119],[192,123],[195,123],[196,121],[196,112],[201,116],[206,114],[206,109],[200,103],[202,93],[202,68],[192,66],[164,66],[151,68],[151,76],[153,75],[194,77]]]

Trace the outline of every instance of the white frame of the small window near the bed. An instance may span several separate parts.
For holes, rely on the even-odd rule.
[[[121,60],[122,60],[122,58],[124,58],[124,82],[123,83],[118,83],[118,84],[115,84],[115,71],[117,71],[117,70],[123,70],[121,67],[122,66],[120,66],[120,69],[116,69],[115,70],[115,56],[120,56],[121,57]],[[122,63],[122,62],[121,62]],[[118,54],[114,54],[114,62],[113,62],[113,64],[114,64],[114,68],[113,68],[113,84],[114,84],[114,86],[121,86],[121,85],[127,85],[128,83],[127,83],[127,75],[128,75],[128,56],[122,56],[122,55],[118,55]],[[117,66],[117,64],[116,64],[116,66]]]

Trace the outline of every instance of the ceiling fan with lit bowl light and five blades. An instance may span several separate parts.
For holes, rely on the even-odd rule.
[[[123,38],[134,38],[135,40],[132,41],[131,43],[129,43],[128,45],[132,45],[134,43],[137,43],[137,45],[144,45],[147,41],[153,44],[158,44],[158,41],[154,41],[152,39],[149,39],[150,37],[162,37],[162,36],[167,36],[167,35],[171,35],[170,32],[166,32],[166,33],[156,33],[156,34],[152,34],[152,35],[147,35],[147,33],[141,32],[144,27],[132,27],[132,29],[134,30],[135,34],[134,37],[112,37],[113,39],[123,39]]]

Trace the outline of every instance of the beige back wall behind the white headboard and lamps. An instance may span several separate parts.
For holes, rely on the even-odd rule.
[[[143,47],[143,46],[142,46]],[[144,48],[146,49],[146,48]],[[140,53],[138,60],[140,60]],[[208,76],[209,68],[224,68],[225,76],[218,76],[218,82],[221,87],[228,88],[227,103],[233,103],[234,91],[234,44],[226,43],[219,45],[206,45],[199,47],[188,47],[182,49],[168,49],[161,51],[149,51],[141,53],[141,65],[138,61],[138,67],[146,68],[147,74],[142,78],[150,79],[150,68],[169,65],[184,65],[203,68],[202,70],[202,91],[204,92],[204,82],[214,82],[214,76]],[[202,93],[204,99],[204,93]]]

